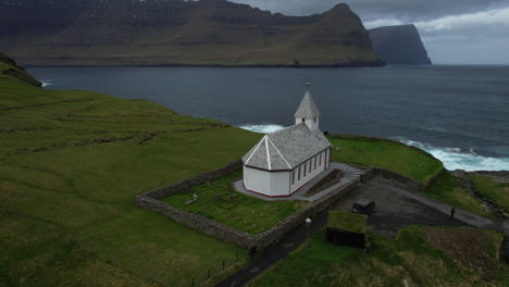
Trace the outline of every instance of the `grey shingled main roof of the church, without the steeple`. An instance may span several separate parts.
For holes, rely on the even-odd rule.
[[[305,123],[264,136],[244,158],[246,166],[266,171],[289,171],[331,147],[320,130]]]

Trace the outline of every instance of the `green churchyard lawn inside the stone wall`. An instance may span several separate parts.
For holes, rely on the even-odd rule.
[[[250,234],[260,234],[273,227],[307,204],[305,201],[265,201],[237,192],[232,183],[241,175],[243,172],[238,171],[174,194],[163,201]],[[198,200],[186,205],[194,199],[194,194],[197,194]]]

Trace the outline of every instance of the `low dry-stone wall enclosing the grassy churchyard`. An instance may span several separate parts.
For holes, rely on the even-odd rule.
[[[324,211],[338,200],[349,196],[357,190],[360,185],[360,180],[357,179],[346,186],[339,187],[321,199],[301,208],[272,228],[258,235],[248,234],[219,222],[186,212],[160,200],[191,186],[200,185],[231,174],[241,169],[241,166],[243,162],[237,160],[215,171],[199,174],[176,184],[147,191],[136,197],[136,204],[228,244],[238,245],[248,249],[256,248],[256,250],[260,251],[277,242],[294,228],[301,225],[306,219]]]

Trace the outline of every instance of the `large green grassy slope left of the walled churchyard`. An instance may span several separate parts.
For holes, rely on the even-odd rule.
[[[243,254],[134,198],[238,159],[259,135],[142,100],[7,78],[0,91],[0,286],[190,285]]]

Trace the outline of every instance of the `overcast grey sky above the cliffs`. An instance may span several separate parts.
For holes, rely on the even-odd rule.
[[[509,0],[232,0],[286,15],[348,3],[367,28],[415,24],[436,64],[509,64]]]

